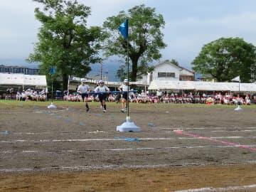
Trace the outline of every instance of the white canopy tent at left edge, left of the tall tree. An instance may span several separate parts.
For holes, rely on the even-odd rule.
[[[46,87],[46,75],[23,75],[0,73],[0,85],[33,85]]]

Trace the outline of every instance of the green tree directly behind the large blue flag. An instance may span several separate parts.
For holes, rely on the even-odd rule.
[[[163,41],[164,18],[156,14],[154,8],[145,5],[134,6],[128,13],[120,11],[117,16],[107,18],[103,24],[107,40],[105,41],[105,55],[118,55],[125,58],[127,55],[127,41],[119,34],[118,27],[124,20],[129,19],[129,59],[132,62],[131,80],[136,81],[148,70],[148,63],[161,58],[160,49],[165,48]],[[124,72],[125,65],[120,67],[120,73]],[[119,77],[120,78],[120,77]]]

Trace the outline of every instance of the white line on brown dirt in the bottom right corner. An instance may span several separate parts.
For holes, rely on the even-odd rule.
[[[250,185],[250,186],[229,186],[225,188],[213,188],[213,187],[196,188],[196,189],[188,189],[188,190],[181,190],[181,191],[175,191],[175,192],[210,192],[210,191],[224,192],[224,191],[237,191],[237,190],[247,191],[252,188],[256,188],[256,184]]]

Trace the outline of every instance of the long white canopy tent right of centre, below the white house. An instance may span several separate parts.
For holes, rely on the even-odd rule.
[[[238,92],[238,82],[201,82],[153,80],[149,90],[201,90],[201,91],[233,91]],[[256,92],[255,83],[240,83],[241,92]]]

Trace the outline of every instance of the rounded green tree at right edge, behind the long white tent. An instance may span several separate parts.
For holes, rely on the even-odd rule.
[[[218,81],[230,81],[240,75],[250,82],[256,75],[256,48],[242,38],[220,38],[203,46],[193,60],[193,70]]]

